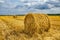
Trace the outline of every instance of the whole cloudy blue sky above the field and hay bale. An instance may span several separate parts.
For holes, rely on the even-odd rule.
[[[60,0],[0,0],[0,15],[29,12],[60,14]]]

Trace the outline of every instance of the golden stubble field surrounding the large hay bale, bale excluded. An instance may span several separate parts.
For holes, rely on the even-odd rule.
[[[49,31],[30,36],[24,32],[25,16],[0,16],[0,40],[60,40],[60,16],[48,17]]]

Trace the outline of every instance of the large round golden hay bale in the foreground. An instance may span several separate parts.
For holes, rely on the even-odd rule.
[[[27,14],[24,24],[27,34],[42,33],[50,28],[50,21],[46,14]]]

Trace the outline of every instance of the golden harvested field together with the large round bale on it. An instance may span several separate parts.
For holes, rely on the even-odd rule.
[[[60,40],[60,16],[0,16],[0,40]]]

